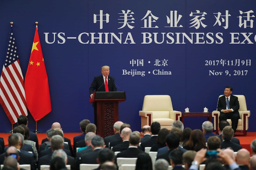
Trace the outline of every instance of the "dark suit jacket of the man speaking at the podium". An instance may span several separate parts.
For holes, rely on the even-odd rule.
[[[108,91],[116,91],[116,85],[114,84],[114,77],[108,76]],[[94,77],[93,82],[89,88],[90,94],[95,91],[106,91],[104,85],[103,75]]]

